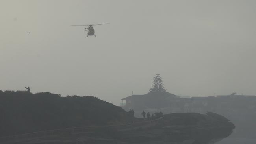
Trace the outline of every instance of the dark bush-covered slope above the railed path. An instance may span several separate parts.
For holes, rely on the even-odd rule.
[[[0,136],[67,127],[122,124],[131,116],[93,96],[0,91]]]

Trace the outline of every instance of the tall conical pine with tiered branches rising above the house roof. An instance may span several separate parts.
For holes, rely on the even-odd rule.
[[[149,92],[166,92],[166,89],[163,87],[163,79],[160,74],[156,74],[153,79],[152,88],[149,89]]]

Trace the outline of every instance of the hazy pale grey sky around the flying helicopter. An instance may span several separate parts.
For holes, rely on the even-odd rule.
[[[0,90],[256,94],[255,0],[1,0],[0,22]]]

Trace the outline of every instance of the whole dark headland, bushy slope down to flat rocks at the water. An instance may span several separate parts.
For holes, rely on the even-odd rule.
[[[211,112],[134,118],[132,110],[93,96],[49,92],[0,92],[0,114],[1,144],[208,144],[227,137],[235,127]]]

